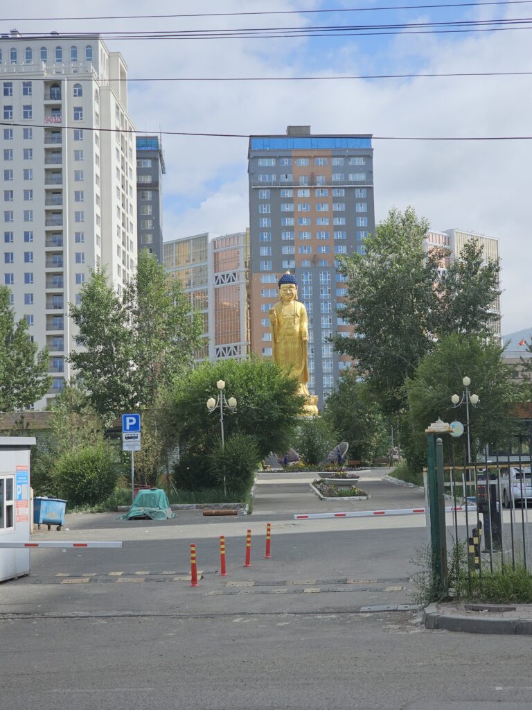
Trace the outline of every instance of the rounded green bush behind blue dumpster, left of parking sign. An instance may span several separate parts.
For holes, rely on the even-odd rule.
[[[87,446],[62,454],[55,461],[55,481],[70,506],[94,506],[113,493],[116,472],[106,444]]]

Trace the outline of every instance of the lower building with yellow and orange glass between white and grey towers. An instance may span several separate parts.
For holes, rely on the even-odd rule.
[[[164,263],[204,320],[204,346],[196,361],[242,359],[249,354],[247,272],[249,230],[167,241]]]

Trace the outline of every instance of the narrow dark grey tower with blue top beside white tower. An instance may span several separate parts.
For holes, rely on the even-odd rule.
[[[137,136],[138,249],[162,263],[162,175],[165,159],[159,136]]]

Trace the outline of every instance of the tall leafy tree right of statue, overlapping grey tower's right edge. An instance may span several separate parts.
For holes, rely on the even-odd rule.
[[[357,363],[386,414],[404,405],[403,385],[431,347],[438,297],[434,284],[442,256],[426,255],[428,223],[409,207],[390,210],[365,242],[365,254],[344,258],[348,300],[342,317],[355,337],[336,336],[336,349]]]

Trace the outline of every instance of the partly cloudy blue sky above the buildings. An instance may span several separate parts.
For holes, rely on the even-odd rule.
[[[438,0],[439,4],[449,0]],[[438,4],[432,0],[432,4]],[[55,0],[11,4],[1,31],[24,33],[313,27],[530,15],[532,1],[392,9],[431,0]],[[378,9],[383,8],[383,9]],[[305,10],[334,9],[305,14]],[[347,11],[356,9],[357,11]],[[363,10],[360,10],[363,9]],[[177,13],[297,11],[284,15],[116,18]],[[82,16],[116,19],[81,19]],[[72,19],[61,19],[61,18]],[[41,19],[37,19],[41,18]],[[106,39],[128,65],[128,111],[140,132],[162,133],[165,241],[248,226],[248,138],[194,133],[372,133],[377,221],[411,205],[432,229],[499,239],[503,333],[532,331],[531,140],[406,141],[387,138],[532,136],[532,75],[326,81],[199,78],[532,72],[528,28],[475,33],[247,38]],[[170,81],[195,78],[196,81]],[[150,81],[135,81],[135,80]],[[155,81],[160,79],[162,81]]]

